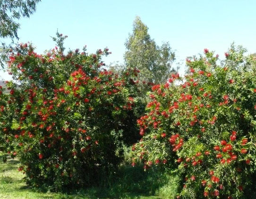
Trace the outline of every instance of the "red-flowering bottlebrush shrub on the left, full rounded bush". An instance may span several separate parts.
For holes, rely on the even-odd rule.
[[[6,151],[20,159],[30,185],[60,190],[100,183],[120,162],[126,120],[136,103],[129,90],[136,90],[138,71],[119,77],[101,69],[108,49],[65,55],[56,47],[38,55],[32,45],[21,44],[16,51],[9,72],[19,88],[10,88],[13,100],[1,102],[10,112],[8,120],[0,118]]]

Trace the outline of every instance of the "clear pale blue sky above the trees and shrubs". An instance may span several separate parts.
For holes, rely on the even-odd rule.
[[[204,48],[223,58],[233,41],[256,52],[255,10],[255,0],[42,0],[30,18],[19,21],[18,36],[43,53],[55,46],[50,36],[58,29],[68,35],[66,48],[87,45],[88,52],[95,52],[108,47],[112,54],[105,63],[123,62],[124,42],[140,16],[158,45],[170,42],[178,61]]]

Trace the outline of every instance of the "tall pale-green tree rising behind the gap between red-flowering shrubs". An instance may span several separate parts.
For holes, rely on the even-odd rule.
[[[162,46],[156,45],[148,34],[148,27],[136,17],[133,23],[133,32],[125,43],[127,51],[124,55],[126,67],[138,68],[141,80],[161,83],[167,80],[171,72],[171,64],[175,54],[168,42]]]

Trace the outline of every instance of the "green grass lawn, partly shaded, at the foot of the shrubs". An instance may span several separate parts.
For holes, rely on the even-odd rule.
[[[0,153],[0,199],[174,199],[177,192],[176,176],[133,167],[122,167],[121,175],[108,188],[42,192],[22,180],[24,175],[17,170],[17,159],[8,158],[3,163],[1,156]]]

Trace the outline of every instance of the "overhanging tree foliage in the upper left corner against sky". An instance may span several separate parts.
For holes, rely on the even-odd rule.
[[[12,42],[18,38],[17,31],[21,17],[29,17],[36,10],[36,4],[41,0],[0,0],[0,39],[10,38]],[[6,53],[11,47],[0,40],[0,64],[3,67]]]

